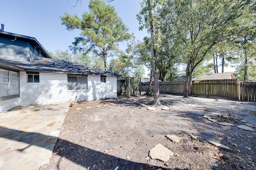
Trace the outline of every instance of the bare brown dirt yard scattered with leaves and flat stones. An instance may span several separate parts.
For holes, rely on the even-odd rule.
[[[162,95],[162,106],[148,110],[152,104],[147,96],[78,102],[70,107],[47,169],[256,170],[255,102]],[[237,127],[246,123],[254,131]],[[158,143],[174,152],[167,162],[149,157]]]

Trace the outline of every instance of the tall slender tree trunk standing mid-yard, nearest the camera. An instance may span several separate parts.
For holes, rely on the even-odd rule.
[[[158,62],[157,62],[157,55],[156,55],[156,47],[154,45],[155,43],[155,35],[156,35],[156,28],[154,26],[153,21],[153,11],[152,11],[152,0],[148,0],[150,3],[150,10],[149,14],[151,16],[150,21],[150,33],[151,33],[151,41],[152,41],[152,57],[154,59],[154,106],[160,106],[160,98],[159,98],[159,78],[158,78]]]

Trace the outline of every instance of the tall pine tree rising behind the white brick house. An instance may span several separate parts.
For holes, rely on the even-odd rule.
[[[69,31],[81,30],[81,36],[75,38],[70,49],[74,53],[79,51],[102,57],[104,68],[108,70],[107,57],[118,53],[118,43],[130,39],[131,35],[115,8],[103,0],[90,0],[89,10],[82,18],[68,13],[60,18]]]

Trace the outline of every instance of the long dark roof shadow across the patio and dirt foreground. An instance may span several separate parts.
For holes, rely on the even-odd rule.
[[[0,137],[27,143],[29,144],[28,147],[32,145],[36,145],[38,147],[43,147],[48,149],[46,147],[47,146],[46,143],[38,143],[37,140],[46,139],[46,142],[47,142],[47,139],[56,138],[53,136],[42,135],[40,133],[18,131],[15,129],[9,129],[2,126],[0,126],[0,130],[1,130]],[[66,141],[63,139],[58,139],[57,143],[58,143],[58,146],[55,146],[54,154],[58,154],[61,157],[59,159],[59,164],[62,158],[66,158],[80,166],[88,167],[88,166],[94,165],[101,168],[102,170],[115,169],[116,167],[119,167],[118,169],[122,169],[122,170],[152,170],[152,169],[160,168],[157,166],[151,166],[150,164],[142,164],[138,162],[124,160],[112,155],[108,155],[102,152],[98,152],[96,150],[92,150],[92,149],[77,145],[75,143],[72,143],[70,141]],[[68,148],[68,150],[64,150],[62,148],[62,144],[69,145],[70,147]],[[20,149],[19,151],[23,152],[28,147]],[[58,167],[56,168],[58,169]],[[167,170],[167,169],[162,168],[162,170]]]

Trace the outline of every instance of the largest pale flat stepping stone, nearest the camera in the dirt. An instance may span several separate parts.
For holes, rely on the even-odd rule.
[[[170,151],[169,149],[167,149],[160,143],[158,143],[154,148],[152,148],[149,151],[149,157],[151,159],[157,159],[157,160],[161,160],[163,162],[168,161],[170,159],[170,157],[173,155],[174,155],[174,153],[172,151]]]

